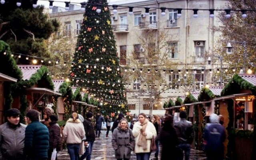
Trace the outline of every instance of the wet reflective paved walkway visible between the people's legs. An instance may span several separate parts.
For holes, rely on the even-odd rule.
[[[96,138],[92,150],[91,160],[116,160],[115,152],[111,144],[111,131],[109,137],[106,137],[106,131],[102,130],[100,138]],[[161,145],[159,146],[160,153],[158,159],[160,160],[161,156]],[[58,160],[70,160],[67,150],[58,152]],[[150,155],[150,159],[154,158],[154,152]],[[171,157],[170,157],[171,159]],[[136,155],[132,152],[130,160],[136,160]],[[191,150],[190,160],[206,160],[205,154],[202,151]]]

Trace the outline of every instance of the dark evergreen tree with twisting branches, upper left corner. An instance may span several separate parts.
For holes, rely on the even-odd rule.
[[[22,0],[19,7],[16,2],[0,4],[0,40],[7,42],[12,52],[51,58],[44,40],[58,30],[57,20],[50,20],[43,6],[33,8],[33,0]],[[30,64],[31,58],[25,58],[22,56],[18,63]]]

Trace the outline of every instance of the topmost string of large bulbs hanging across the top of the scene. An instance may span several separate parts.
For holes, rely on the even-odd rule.
[[[63,2],[63,1],[59,1],[59,0],[41,0],[41,1],[48,1],[50,9],[52,9],[54,7],[54,2]],[[32,6],[34,8],[38,7],[37,2],[38,2],[38,0],[33,0]],[[0,3],[2,5],[4,5],[5,4],[5,0],[0,0]],[[198,11],[199,10],[209,11],[210,18],[214,18],[214,11],[222,11],[222,12],[224,11],[224,12],[226,12],[226,15],[225,15],[226,18],[230,18],[231,17],[231,12],[240,12],[242,18],[246,18],[247,17],[246,12],[255,12],[256,11],[254,8],[244,8],[244,9],[230,9],[230,8],[226,8],[226,9],[214,9],[214,8],[211,8],[211,9],[200,9],[200,8],[141,7],[141,6],[116,5],[116,4],[108,5],[108,4],[102,4],[102,3],[95,4],[95,3],[86,3],[86,2],[81,2],[81,3],[78,3],[78,2],[72,2],[72,3],[71,2],[63,2],[63,3],[65,3],[65,9],[66,10],[69,10],[70,4],[81,5],[81,11],[82,12],[85,11],[86,5],[95,6],[96,7],[96,12],[98,12],[98,13],[101,12],[101,8],[103,8],[103,7],[112,7],[112,9],[113,9],[112,12],[114,14],[116,14],[118,12],[117,11],[118,7],[120,7],[120,8],[128,8],[128,14],[130,14],[130,15],[133,14],[133,9],[134,8],[144,8],[146,16],[149,15],[150,8],[151,9],[161,10],[161,16],[165,16],[166,15],[165,10],[177,10],[178,18],[182,16],[182,10],[191,10],[191,11],[193,11],[194,18],[198,17]],[[22,0],[17,0],[16,5],[18,7],[22,6]]]

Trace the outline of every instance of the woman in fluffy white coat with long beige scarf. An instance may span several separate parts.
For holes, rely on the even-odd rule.
[[[156,128],[146,118],[146,114],[140,113],[138,122],[132,129],[132,134],[135,137],[135,148],[137,160],[149,160],[151,139],[156,137]]]

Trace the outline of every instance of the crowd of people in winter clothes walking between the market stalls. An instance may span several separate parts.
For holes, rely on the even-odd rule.
[[[173,122],[171,115],[152,117],[134,114],[129,126],[122,113],[112,125],[112,146],[117,160],[129,160],[131,152],[137,160],[149,160],[154,152],[158,160],[159,143],[162,145],[161,160],[189,160],[194,139],[191,122],[186,120],[186,112],[179,113],[180,120]],[[95,125],[93,113],[86,118],[76,112],[66,121],[63,132],[57,124],[58,116],[50,107],[44,109],[44,119],[40,112],[30,110],[26,114],[26,124],[20,123],[20,111],[11,108],[6,112],[7,122],[0,125],[0,160],[51,160],[52,153],[62,150],[63,142],[70,160],[90,160],[94,141],[100,137],[102,124],[106,122],[106,137],[109,135],[112,119],[98,113]],[[220,121],[221,120],[221,121]],[[208,160],[223,160],[226,139],[222,116],[210,115],[210,123],[204,130],[204,144]],[[222,123],[223,124],[223,123]],[[95,128],[95,130],[94,130]],[[96,131],[96,132],[94,132]],[[62,133],[62,134],[61,134]],[[62,137],[63,136],[63,137]],[[81,156],[80,156],[81,155]],[[54,156],[57,160],[57,156]]]

